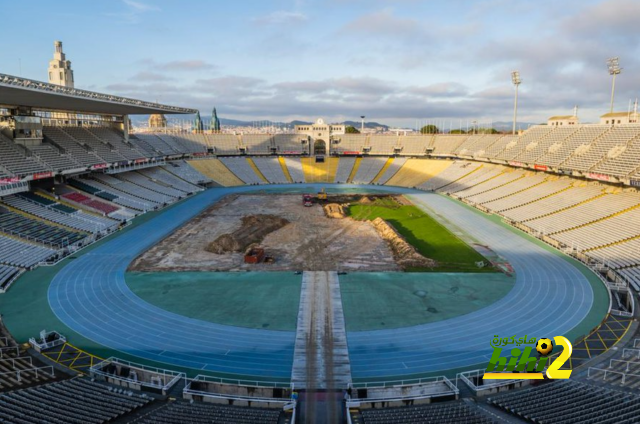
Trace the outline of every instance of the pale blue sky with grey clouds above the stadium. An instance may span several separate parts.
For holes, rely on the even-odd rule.
[[[231,119],[546,122],[640,94],[639,0],[0,0],[0,73]],[[37,11],[37,13],[34,13]],[[13,18],[12,18],[13,16]],[[8,18],[7,18],[8,17]]]

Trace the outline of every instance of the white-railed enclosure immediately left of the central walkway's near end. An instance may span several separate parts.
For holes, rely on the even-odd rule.
[[[188,380],[182,392],[187,400],[256,408],[295,408],[292,389],[223,384],[205,375]]]

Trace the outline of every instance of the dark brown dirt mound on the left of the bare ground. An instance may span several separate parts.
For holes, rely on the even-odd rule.
[[[241,218],[242,226],[236,231],[223,234],[205,248],[207,252],[222,254],[226,252],[244,252],[252,244],[260,243],[264,238],[289,223],[275,215],[249,215]]]

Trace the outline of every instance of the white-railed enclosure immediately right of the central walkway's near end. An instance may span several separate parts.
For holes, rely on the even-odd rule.
[[[433,399],[458,399],[460,390],[447,377],[419,379],[419,382],[391,384],[393,382],[352,384],[355,397],[348,399],[349,408],[388,408],[431,403]]]

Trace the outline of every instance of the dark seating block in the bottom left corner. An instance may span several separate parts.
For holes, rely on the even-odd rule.
[[[0,395],[0,419],[7,422],[103,423],[152,399],[86,378],[50,383]]]

